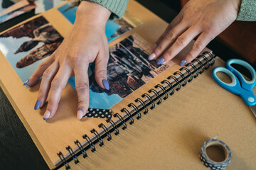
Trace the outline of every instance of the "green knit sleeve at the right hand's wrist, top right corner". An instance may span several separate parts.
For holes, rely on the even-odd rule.
[[[256,0],[242,0],[237,20],[256,21]]]

